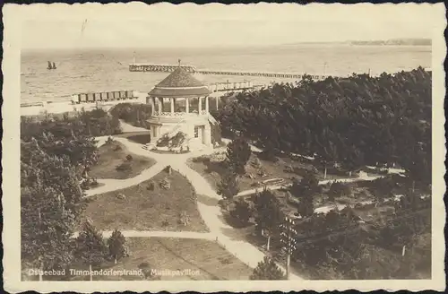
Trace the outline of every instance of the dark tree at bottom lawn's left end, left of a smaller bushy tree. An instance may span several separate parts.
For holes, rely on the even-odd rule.
[[[76,238],[75,257],[81,259],[85,264],[89,264],[90,281],[93,281],[91,267],[99,265],[105,260],[108,254],[102,233],[90,223],[85,221],[82,231]]]

